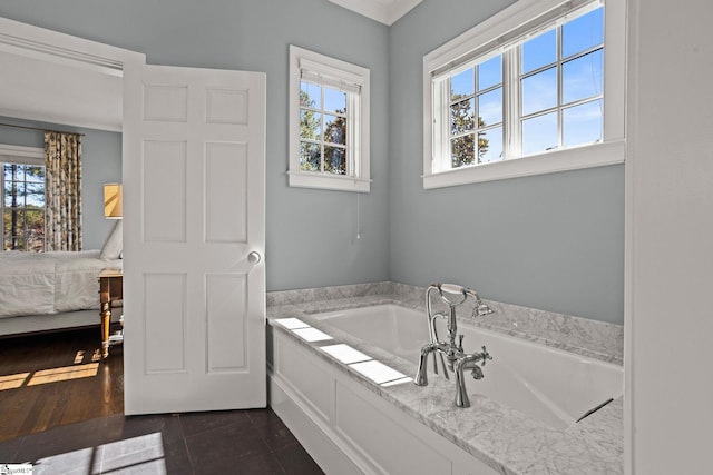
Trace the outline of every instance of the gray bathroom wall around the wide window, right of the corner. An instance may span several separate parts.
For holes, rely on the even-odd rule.
[[[391,279],[623,324],[623,166],[423,190],[423,56],[509,3],[424,0],[390,30]]]

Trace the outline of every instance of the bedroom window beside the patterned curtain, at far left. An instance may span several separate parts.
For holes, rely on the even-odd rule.
[[[0,146],[2,249],[45,250],[42,149]]]

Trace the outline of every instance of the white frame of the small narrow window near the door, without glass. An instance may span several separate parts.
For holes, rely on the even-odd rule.
[[[300,82],[303,75],[348,90],[348,175],[300,169]],[[290,169],[291,187],[369,192],[370,71],[346,61],[290,46]]]

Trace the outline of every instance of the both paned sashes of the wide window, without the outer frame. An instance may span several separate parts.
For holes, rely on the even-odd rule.
[[[603,11],[586,11],[437,82],[450,89],[451,169],[602,141]],[[516,62],[507,75],[505,65]],[[506,100],[519,103],[517,116],[504,115]],[[507,133],[512,142],[504,154]]]

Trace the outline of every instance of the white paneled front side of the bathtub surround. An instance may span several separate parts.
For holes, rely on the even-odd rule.
[[[270,406],[325,473],[495,475],[318,356],[319,349],[305,348],[280,329],[271,328],[267,336],[267,359],[274,362]]]

